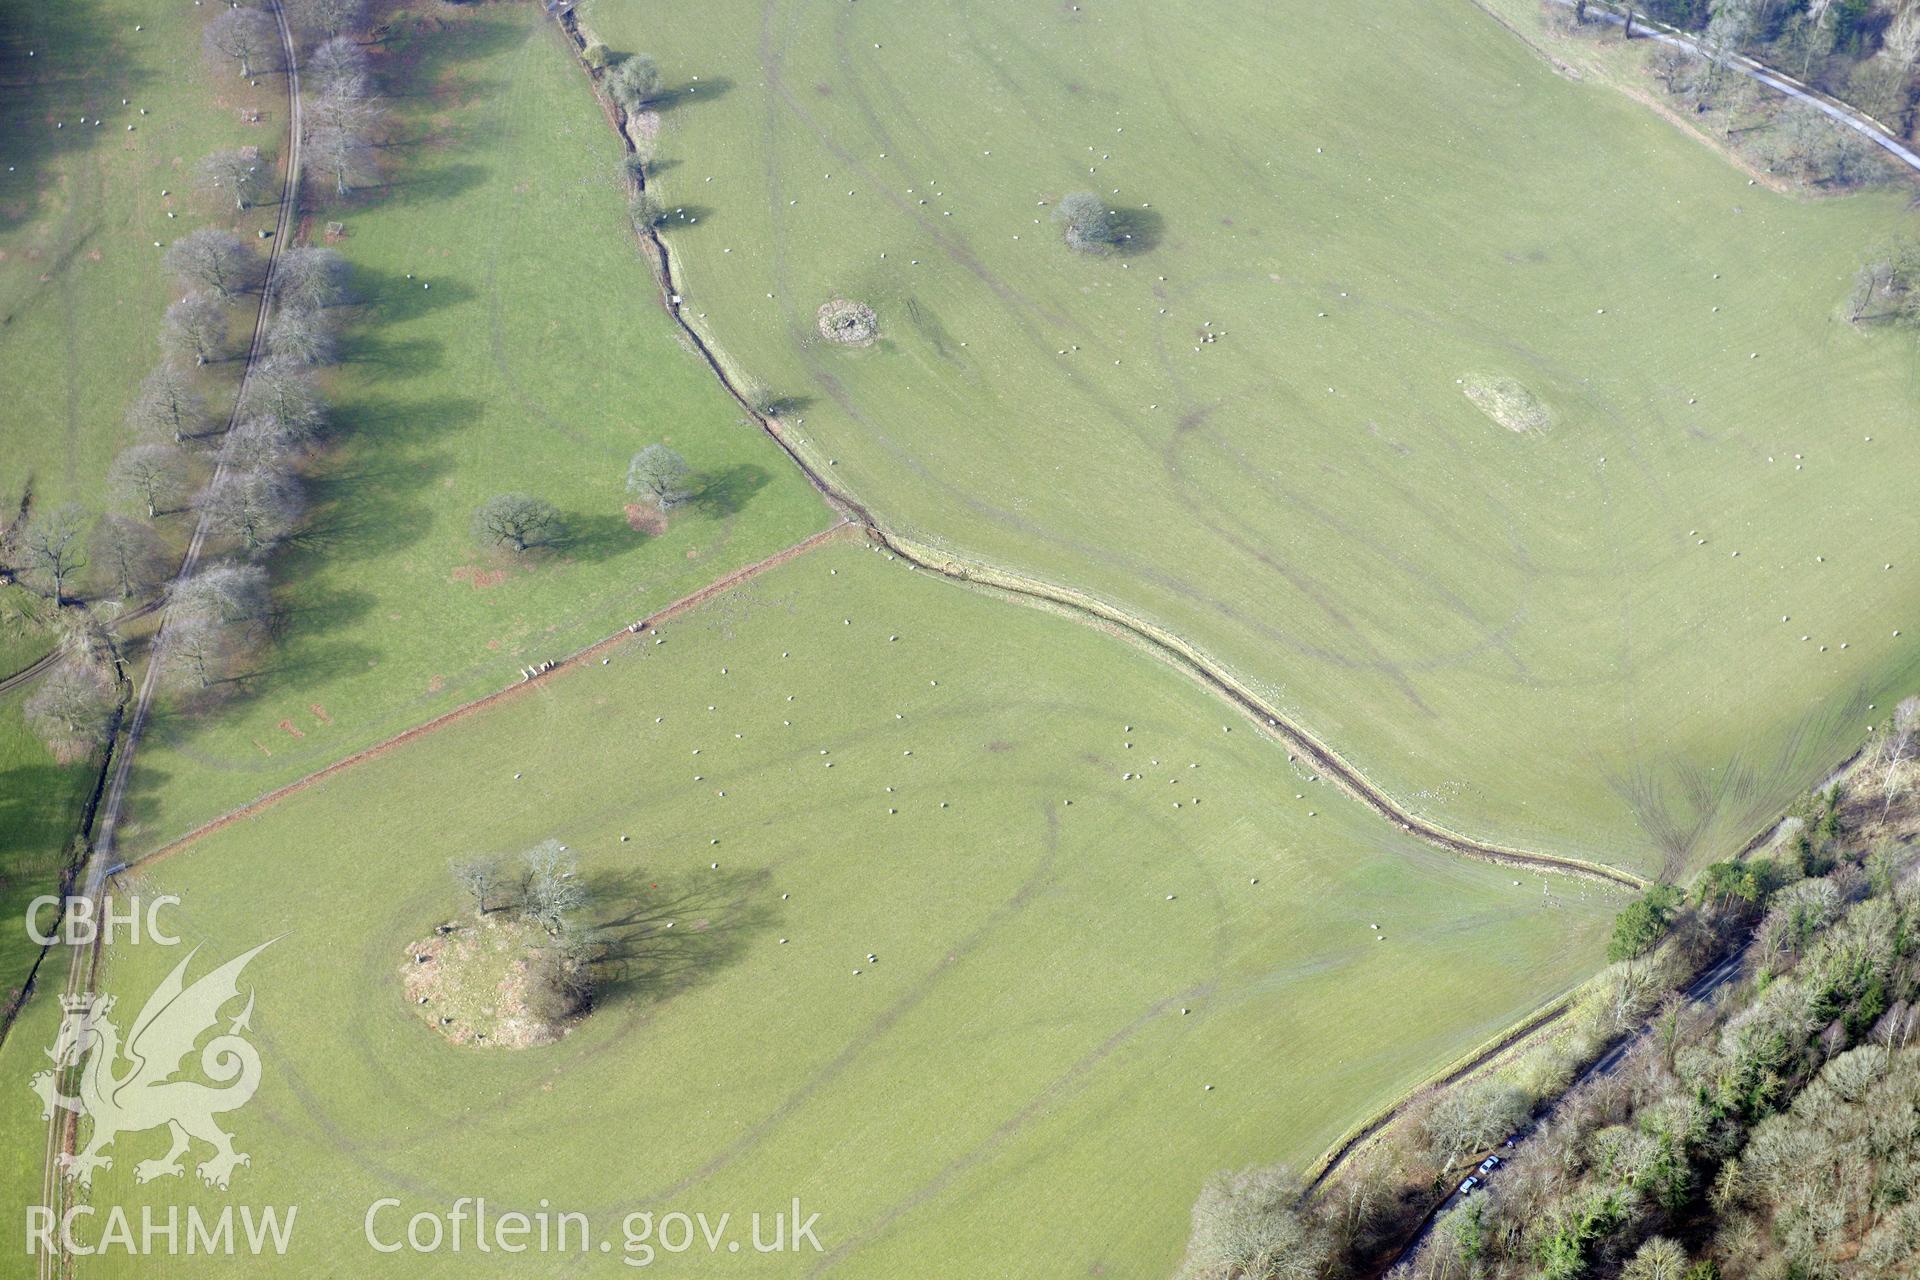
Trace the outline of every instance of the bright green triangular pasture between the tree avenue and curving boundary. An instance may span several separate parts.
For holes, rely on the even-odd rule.
[[[313,514],[271,562],[276,635],[169,697],[136,756],[129,850],[516,679],[829,522],[682,345],[626,226],[622,152],[534,6],[432,6],[374,46],[386,184],[309,175],[361,305],[326,374]],[[668,441],[705,491],[630,528],[628,457]],[[470,535],[530,491],[572,541],[515,562]]]

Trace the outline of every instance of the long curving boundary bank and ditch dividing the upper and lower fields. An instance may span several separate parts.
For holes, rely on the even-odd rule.
[[[586,38],[580,35],[580,25],[572,13],[566,10],[559,13],[559,27],[564,33],[568,44],[572,46],[574,65],[588,77],[593,100],[601,106],[607,115],[607,123],[612,127],[614,134],[620,138],[622,148],[628,155],[634,155],[634,140],[626,130],[626,113],[622,107],[601,92],[599,81],[593,69],[588,67],[584,59]],[[647,190],[645,175],[634,175],[637,190]],[[868,539],[895,553],[908,564],[924,568],[941,578],[960,581],[966,585],[985,585],[998,591],[1006,591],[1018,597],[1029,597],[1043,601],[1046,604],[1060,606],[1085,622],[1094,618],[1100,624],[1121,628],[1135,641],[1142,643],[1154,656],[1162,658],[1175,670],[1198,679],[1210,693],[1225,699],[1242,714],[1254,720],[1269,737],[1279,739],[1290,747],[1296,754],[1306,756],[1311,766],[1325,777],[1331,777],[1344,793],[1371,808],[1375,814],[1394,823],[1407,835],[1419,837],[1428,844],[1436,844],[1448,852],[1461,854],[1467,858],[1478,858],[1482,862],[1496,862],[1501,865],[1528,867],[1538,871],[1559,871],[1563,875],[1576,875],[1592,881],[1601,881],[1615,885],[1619,889],[1630,889],[1640,892],[1647,887],[1647,879],[1626,871],[1620,867],[1605,865],[1599,862],[1586,862],[1582,858],[1571,858],[1561,854],[1540,854],[1523,848],[1509,848],[1503,844],[1492,844],[1488,841],[1476,841],[1446,827],[1427,821],[1409,814],[1392,796],[1375,787],[1365,779],[1365,775],[1342,758],[1332,747],[1321,743],[1309,731],[1300,727],[1288,716],[1269,706],[1258,693],[1240,683],[1231,672],[1221,664],[1210,660],[1194,645],[1187,643],[1179,635],[1160,628],[1142,618],[1100,601],[1098,597],[1075,591],[1071,587],[1058,587],[1054,583],[1043,581],[1039,578],[1027,578],[1014,570],[983,564],[977,560],[966,560],[948,553],[935,551],[925,543],[912,537],[897,533],[885,528],[872,510],[866,509],[856,497],[841,489],[837,484],[828,480],[826,472],[804,453],[804,445],[787,438],[781,430],[778,416],[762,413],[739,388],[735,376],[728,370],[726,363],[718,355],[718,344],[710,342],[685,315],[680,294],[680,278],[674,269],[672,251],[660,238],[659,230],[653,226],[636,228],[634,232],[641,248],[647,253],[649,263],[655,271],[655,282],[660,288],[660,303],[666,313],[674,319],[680,330],[693,344],[693,349],[720,380],[720,386],[728,395],[760,426],[760,430],[780,445],[781,453],[801,468],[801,474],[814,486],[814,489],[839,510],[847,520],[858,524]]]

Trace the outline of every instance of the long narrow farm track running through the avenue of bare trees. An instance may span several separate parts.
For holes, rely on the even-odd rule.
[[[275,219],[273,238],[267,244],[267,267],[261,276],[259,290],[259,311],[253,317],[253,334],[248,340],[246,365],[240,370],[240,386],[234,391],[232,413],[227,415],[227,436],[221,441],[221,453],[213,466],[211,484],[219,484],[227,472],[232,451],[232,426],[240,416],[240,403],[246,397],[248,378],[253,376],[253,368],[259,365],[261,353],[267,344],[267,317],[273,311],[273,273],[280,263],[280,249],[286,246],[288,238],[294,234],[294,219],[298,215],[300,203],[300,163],[301,163],[301,100],[300,100],[300,58],[294,48],[294,33],[286,23],[286,12],[280,8],[280,0],[267,0],[267,10],[273,13],[275,27],[280,35],[280,54],[284,58],[286,75],[286,173],[280,180],[280,209]],[[184,583],[192,578],[194,570],[200,566],[200,557],[205,551],[205,541],[209,535],[209,522],[205,512],[202,512],[200,522],[194,526],[194,535],[186,543],[186,555],[180,558],[180,568],[173,578],[173,587]],[[171,597],[171,587],[169,587]],[[154,639],[148,647],[146,672],[140,676],[140,687],[134,695],[134,704],[131,718],[127,722],[127,733],[119,745],[117,756],[113,760],[113,771],[108,779],[106,794],[100,804],[100,833],[94,841],[92,850],[88,850],[86,860],[81,864],[77,873],[77,887],[83,896],[90,898],[94,904],[94,913],[98,917],[108,869],[113,865],[113,841],[119,831],[121,812],[127,802],[127,779],[132,775],[134,748],[140,745],[140,733],[146,727],[148,716],[152,714],[154,695],[159,687],[159,672],[165,658],[167,645],[167,622],[169,606],[159,606],[159,626],[154,631]],[[81,992],[96,990],[100,975],[100,938],[96,935],[92,946],[84,954],[75,954],[73,963],[67,969],[67,988],[63,998],[77,996]],[[81,1031],[84,1032],[84,1019]],[[67,1069],[61,1084],[73,1086],[75,1069]],[[60,1169],[60,1157],[73,1151],[79,1132],[79,1117],[61,1107],[54,1107],[54,1115],[48,1123],[48,1138],[42,1165],[42,1197],[40,1203],[52,1207],[56,1213],[63,1209],[63,1178]],[[65,1234],[61,1232],[61,1247],[52,1253],[38,1255],[38,1274],[40,1280],[56,1280],[61,1274],[73,1274],[73,1263],[65,1255]]]

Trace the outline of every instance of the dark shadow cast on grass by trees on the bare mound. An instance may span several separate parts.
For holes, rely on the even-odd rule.
[[[778,919],[766,871],[599,875],[586,915],[601,944],[599,994],[668,1000],[730,963]]]

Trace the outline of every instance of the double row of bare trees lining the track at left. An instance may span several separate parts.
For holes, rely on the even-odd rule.
[[[336,186],[357,178],[380,107],[361,46],[346,31],[365,21],[363,0],[288,0],[288,15],[315,42],[309,69],[309,142]],[[278,23],[257,8],[228,8],[205,27],[205,48],[238,75],[280,69]],[[328,130],[351,142],[328,142]],[[213,207],[246,211],[269,188],[275,165],[257,148],[225,148],[198,165]],[[371,171],[371,163],[365,165]],[[108,470],[100,514],[81,503],[29,510],[0,532],[0,576],[44,595],[67,633],[65,656],[29,699],[33,727],[60,756],[77,756],[109,733],[119,681],[104,618],[152,599],[179,562],[169,522],[204,516],[225,555],[173,583],[167,676],[209,687],[271,631],[265,557],[305,512],[301,466],[326,430],[315,370],[338,359],[338,317],[348,301],[346,261],[328,248],[290,248],[271,278],[257,248],[225,226],[175,240],[165,269],[180,296],[161,322],[161,361],[127,411],[132,443]],[[221,374],[246,357],[240,313],[271,307],[265,359],[232,390]],[[252,324],[246,326],[252,332]],[[223,386],[227,384],[227,386]],[[238,395],[232,430],[209,397]]]

